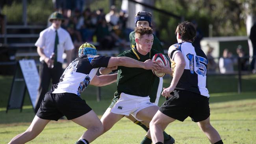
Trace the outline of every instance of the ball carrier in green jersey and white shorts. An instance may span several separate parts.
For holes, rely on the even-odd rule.
[[[130,57],[138,61],[151,61],[152,57],[159,51],[152,49],[154,36],[150,27],[135,28],[136,46],[118,55],[118,57]],[[101,118],[104,132],[108,131],[122,117],[130,114],[135,120],[143,121],[148,124],[159,109],[156,103],[150,102],[150,93],[154,86],[156,76],[150,70],[142,68],[126,68],[123,66],[115,67],[118,70],[117,91],[111,105]],[[101,68],[101,74],[109,74],[115,68]],[[171,74],[171,67],[160,66],[158,72]],[[174,139],[167,135],[165,144],[173,144]],[[141,142],[141,144],[151,144],[150,131]]]

